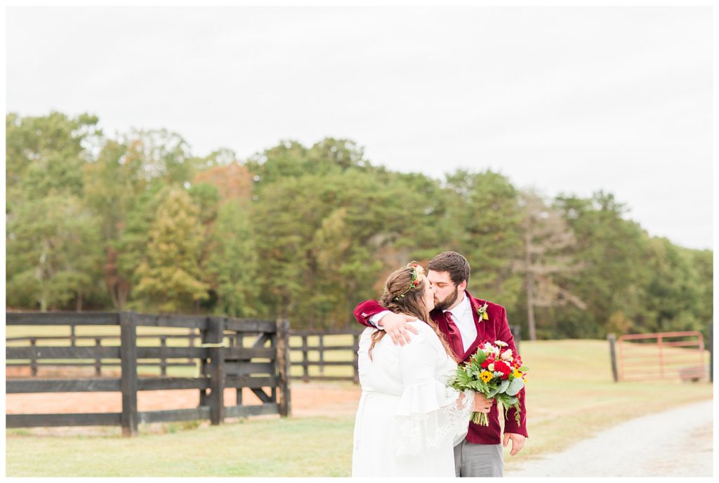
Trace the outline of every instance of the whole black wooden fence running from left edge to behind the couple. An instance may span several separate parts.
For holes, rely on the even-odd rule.
[[[154,316],[127,312],[6,313],[6,325],[70,327],[69,336],[6,339],[6,365],[29,367],[32,376],[7,379],[6,393],[122,392],[122,413],[12,414],[6,415],[8,428],[119,425],[123,434],[132,436],[137,433],[138,423],[209,419],[212,424],[221,424],[224,418],[240,416],[278,413],[286,416],[290,413],[290,365],[301,369],[292,378],[304,382],[359,382],[357,346],[361,331],[290,331],[287,321]],[[78,326],[119,326],[120,335],[78,335]],[[137,334],[138,327],[185,328],[188,332]],[[510,326],[510,329],[519,348],[519,326]],[[329,344],[331,340],[328,341],[328,337],[341,342],[339,345]],[[250,338],[247,344],[245,339]],[[310,341],[315,340],[317,343],[311,344]],[[48,342],[55,345],[47,345]],[[290,362],[290,350],[298,356],[295,362]],[[326,353],[338,352],[345,353],[342,357],[345,360],[327,360],[325,357]],[[318,354],[318,357],[311,357],[311,353]],[[40,367],[62,366],[92,367],[96,377],[37,377]],[[199,367],[198,377],[167,377],[169,367],[187,366]],[[102,369],[112,367],[120,367],[119,378],[99,377]],[[140,377],[138,367],[159,367],[160,377]],[[327,367],[347,367],[351,370],[347,371],[347,375],[326,374]],[[316,370],[311,371],[311,368]],[[225,387],[237,390],[236,405],[224,405]],[[257,395],[261,404],[243,405],[242,387]],[[137,391],[180,389],[200,392],[197,408],[137,410]],[[269,389],[269,394],[265,389]]]

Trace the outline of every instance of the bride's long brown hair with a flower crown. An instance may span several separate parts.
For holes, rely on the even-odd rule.
[[[457,357],[454,357],[454,352],[449,348],[444,334],[439,331],[437,324],[429,316],[429,311],[424,305],[424,290],[426,290],[429,280],[423,275],[418,277],[416,270],[420,270],[421,273],[422,267],[412,267],[410,264],[392,272],[385,282],[385,292],[380,299],[380,305],[388,311],[414,316],[426,323],[439,337],[439,341],[444,346],[447,355],[454,362],[457,362]],[[386,332],[383,330],[377,330],[372,334],[372,344],[370,344],[370,350],[368,351],[370,360],[372,360],[372,349],[374,349],[377,342],[382,340],[385,334]]]

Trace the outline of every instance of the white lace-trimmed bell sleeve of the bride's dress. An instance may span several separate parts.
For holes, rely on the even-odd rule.
[[[453,445],[467,435],[474,392],[447,387],[436,377],[439,357],[436,344],[420,334],[400,349],[400,372],[404,391],[395,413],[397,456],[412,456],[438,448],[447,441]],[[441,346],[440,346],[441,348]]]

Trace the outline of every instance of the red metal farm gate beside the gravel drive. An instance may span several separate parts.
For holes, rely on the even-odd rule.
[[[704,337],[697,331],[620,336],[612,353],[618,381],[697,381],[707,376]]]

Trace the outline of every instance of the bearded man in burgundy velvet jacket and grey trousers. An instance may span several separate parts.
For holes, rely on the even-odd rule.
[[[517,354],[509,330],[505,308],[496,303],[479,300],[465,290],[470,280],[470,264],[457,252],[443,252],[429,261],[427,278],[435,288],[434,311],[430,316],[446,336],[449,346],[460,364],[475,354],[480,341],[505,341],[513,354]],[[487,303],[487,318],[480,317],[478,309]],[[385,310],[377,301],[367,300],[354,309],[354,317],[365,326],[375,326],[390,335],[395,344],[411,344],[408,331],[418,334],[407,323],[406,316]],[[467,438],[454,446],[454,469],[457,477],[502,477],[504,461],[502,446],[512,441],[511,456],[524,446],[527,437],[524,389],[518,394],[521,424],[517,424],[515,410],[505,418],[504,441],[497,405],[489,413],[489,426],[470,422]],[[378,449],[381,454],[381,449]],[[379,455],[379,454],[378,454]]]

